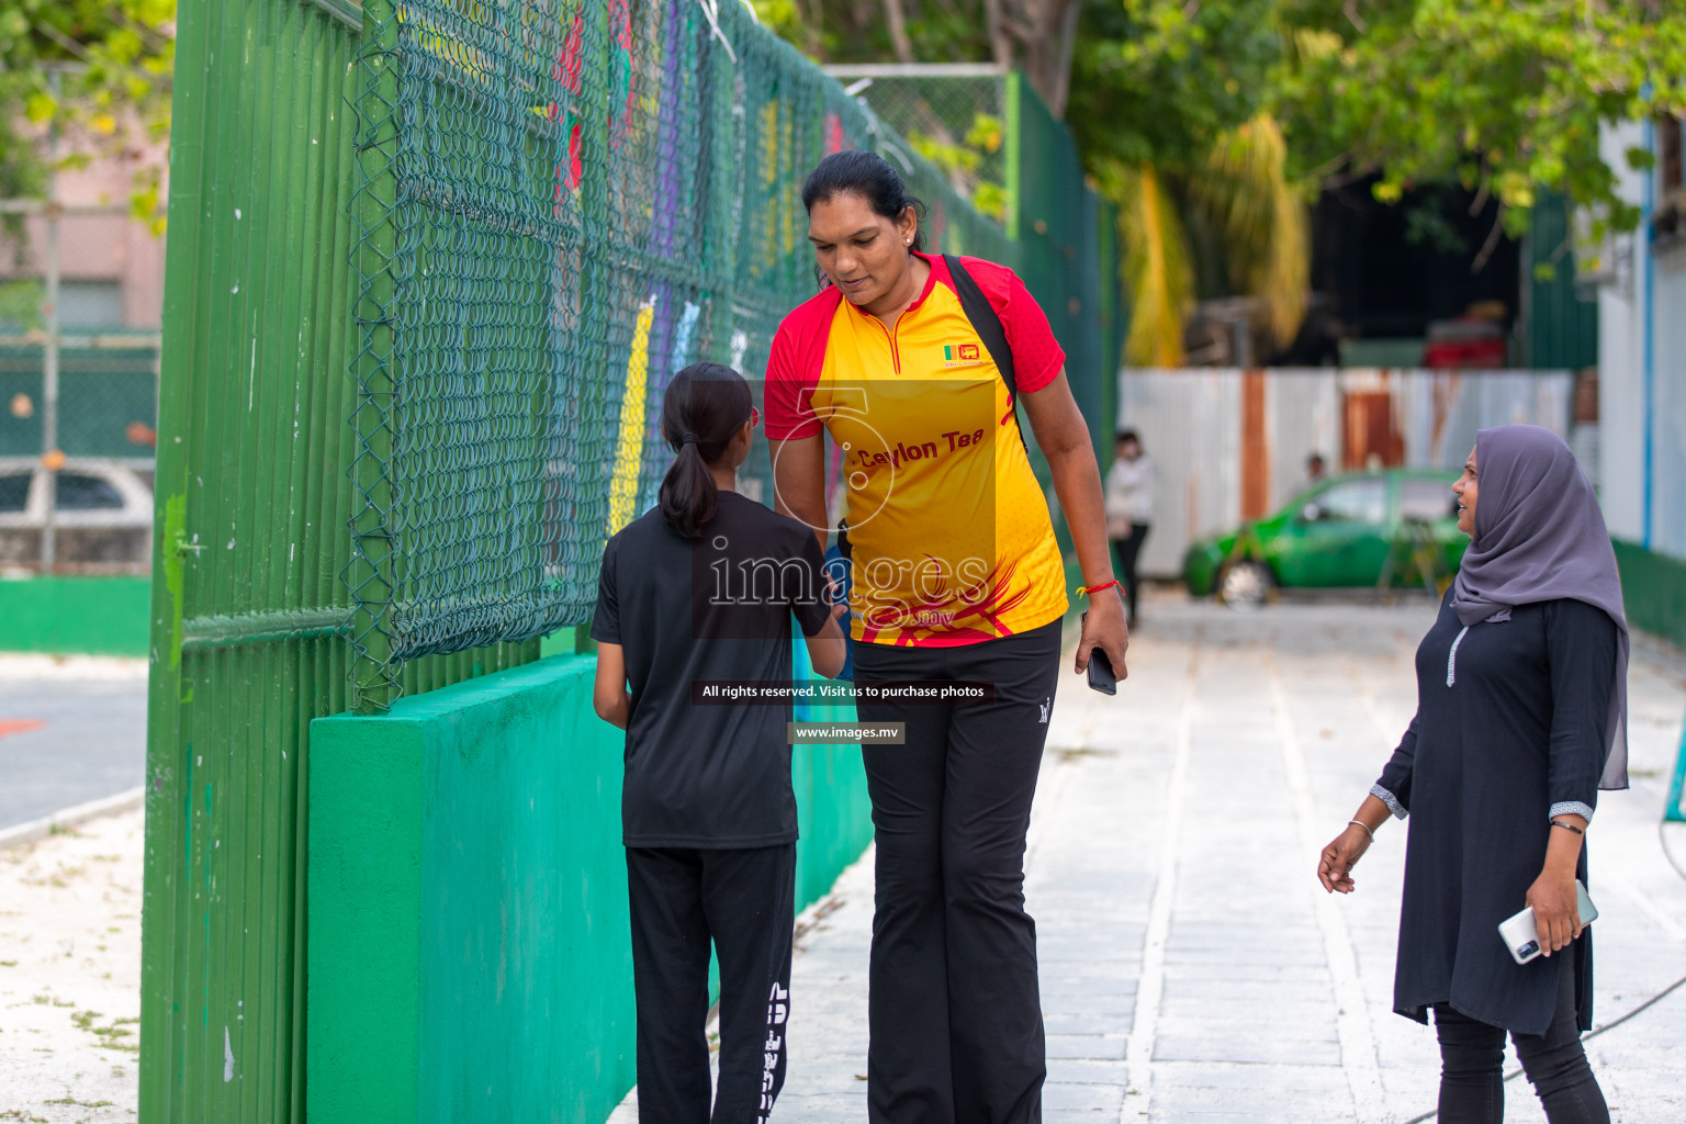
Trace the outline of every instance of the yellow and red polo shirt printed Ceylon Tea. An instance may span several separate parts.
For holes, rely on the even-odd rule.
[[[767,362],[767,436],[831,435],[853,548],[856,640],[959,645],[1066,613],[1047,500],[1007,383],[941,256],[895,329],[836,288],[779,325]],[[1066,362],[1047,315],[1007,266],[963,258],[1001,318],[1020,391]]]

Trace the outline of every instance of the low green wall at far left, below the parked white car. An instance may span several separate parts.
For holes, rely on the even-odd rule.
[[[0,652],[145,656],[152,580],[0,580]]]

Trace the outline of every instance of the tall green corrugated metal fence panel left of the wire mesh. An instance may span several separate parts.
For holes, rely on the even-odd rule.
[[[270,1124],[303,1112],[305,735],[347,701],[356,34],[300,0],[184,2],[177,32],[140,1105]]]

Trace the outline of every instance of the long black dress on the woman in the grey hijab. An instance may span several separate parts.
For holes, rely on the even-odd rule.
[[[1543,1035],[1563,969],[1575,971],[1576,1014],[1592,1028],[1592,929],[1565,952],[1517,964],[1497,927],[1539,878],[1553,809],[1597,807],[1615,640],[1615,622],[1585,602],[1522,605],[1470,629],[1450,595],[1442,603],[1416,649],[1416,718],[1372,789],[1411,817],[1399,1014],[1428,1021],[1430,1006],[1450,1003]],[[1576,873],[1587,881],[1585,848]]]

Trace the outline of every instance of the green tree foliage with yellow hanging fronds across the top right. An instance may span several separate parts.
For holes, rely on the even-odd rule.
[[[905,3],[905,49],[872,0],[772,2],[819,57],[1001,56],[981,0],[883,0]],[[1329,184],[1379,177],[1388,204],[1463,184],[1501,204],[1489,243],[1528,229],[1541,189],[1595,233],[1632,229],[1600,126],[1686,110],[1686,0],[1079,2],[1069,40],[1064,8],[1015,32],[1067,61],[1032,83],[1050,104],[1069,89],[1084,160],[1120,204],[1131,362],[1179,362],[1199,295],[1253,295],[1291,339],[1307,204]]]

